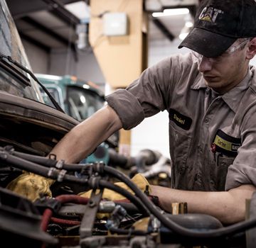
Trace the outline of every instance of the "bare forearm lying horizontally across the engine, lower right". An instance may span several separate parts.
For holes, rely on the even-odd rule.
[[[171,212],[171,203],[188,203],[188,213],[205,213],[225,224],[245,219],[245,199],[251,198],[256,188],[242,185],[230,191],[181,191],[161,186],[151,186],[152,195],[159,197],[161,208]]]

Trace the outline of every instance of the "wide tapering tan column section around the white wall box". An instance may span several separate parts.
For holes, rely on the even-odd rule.
[[[142,60],[143,1],[91,0],[90,9],[89,41],[100,68],[112,88],[125,87],[129,81],[139,77],[144,66]],[[105,35],[102,13],[119,12],[127,16],[126,35]]]

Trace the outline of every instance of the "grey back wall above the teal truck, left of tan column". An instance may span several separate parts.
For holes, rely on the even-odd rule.
[[[73,74],[80,79],[94,81],[105,91],[105,77],[91,49],[78,51],[76,61],[70,50],[53,49],[48,53],[26,40],[22,40],[22,43],[34,73],[59,76]]]

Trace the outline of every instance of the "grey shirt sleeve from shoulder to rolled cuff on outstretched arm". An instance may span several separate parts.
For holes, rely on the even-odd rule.
[[[169,109],[178,77],[188,57],[168,57],[142,72],[126,89],[106,96],[106,101],[119,116],[123,128],[129,130],[160,111]],[[188,63],[187,64],[188,67]]]

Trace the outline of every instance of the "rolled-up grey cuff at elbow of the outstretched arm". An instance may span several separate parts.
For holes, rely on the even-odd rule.
[[[119,116],[124,130],[136,127],[144,120],[144,111],[137,98],[126,89],[118,89],[106,96],[108,105]]]

